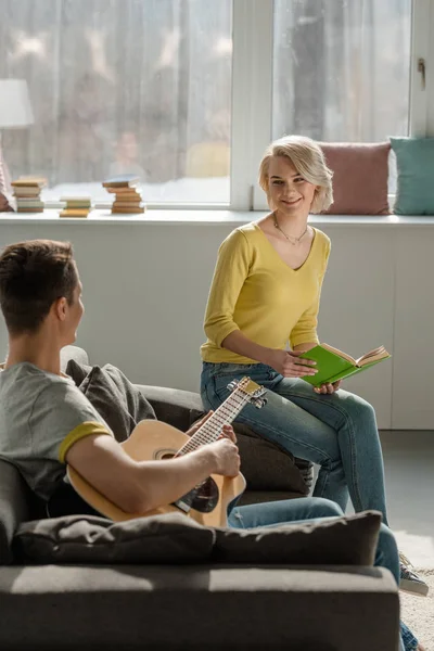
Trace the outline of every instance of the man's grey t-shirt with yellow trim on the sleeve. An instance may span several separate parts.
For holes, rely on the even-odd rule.
[[[0,372],[0,458],[39,497],[51,497],[65,475],[66,452],[89,434],[113,436],[71,379],[29,362]]]

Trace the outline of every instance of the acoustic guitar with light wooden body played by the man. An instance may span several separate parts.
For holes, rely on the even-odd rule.
[[[221,435],[222,426],[230,424],[247,404],[263,407],[267,399],[265,388],[243,378],[228,384],[229,397],[191,437],[161,421],[144,420],[138,423],[127,441],[122,443],[125,451],[136,461],[173,459],[213,443]],[[93,488],[74,468],[67,465],[67,476],[78,495],[94,510],[115,522],[178,512],[207,526],[227,526],[230,505],[245,489],[241,473],[235,477],[210,475],[176,502],[148,511],[127,513]]]

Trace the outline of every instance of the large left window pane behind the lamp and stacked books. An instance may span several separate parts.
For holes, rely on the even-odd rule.
[[[0,77],[35,124],[3,130],[44,199],[133,173],[146,202],[229,202],[232,0],[0,0]],[[1,98],[0,98],[1,101]]]

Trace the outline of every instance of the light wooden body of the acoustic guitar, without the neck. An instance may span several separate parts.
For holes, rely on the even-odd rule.
[[[171,425],[144,420],[122,446],[135,461],[161,461],[171,459],[189,441],[187,434]],[[71,465],[67,467],[67,475],[74,489],[86,502],[115,522],[174,512],[183,513],[206,526],[227,526],[228,507],[245,489],[245,480],[241,473],[233,478],[212,475],[179,500],[182,501],[181,506],[167,505],[146,513],[126,513],[93,488]]]

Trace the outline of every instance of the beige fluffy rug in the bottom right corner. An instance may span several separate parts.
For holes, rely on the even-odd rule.
[[[399,592],[401,620],[412,630],[426,651],[434,651],[434,570],[417,570],[427,583],[427,597],[413,597]]]

